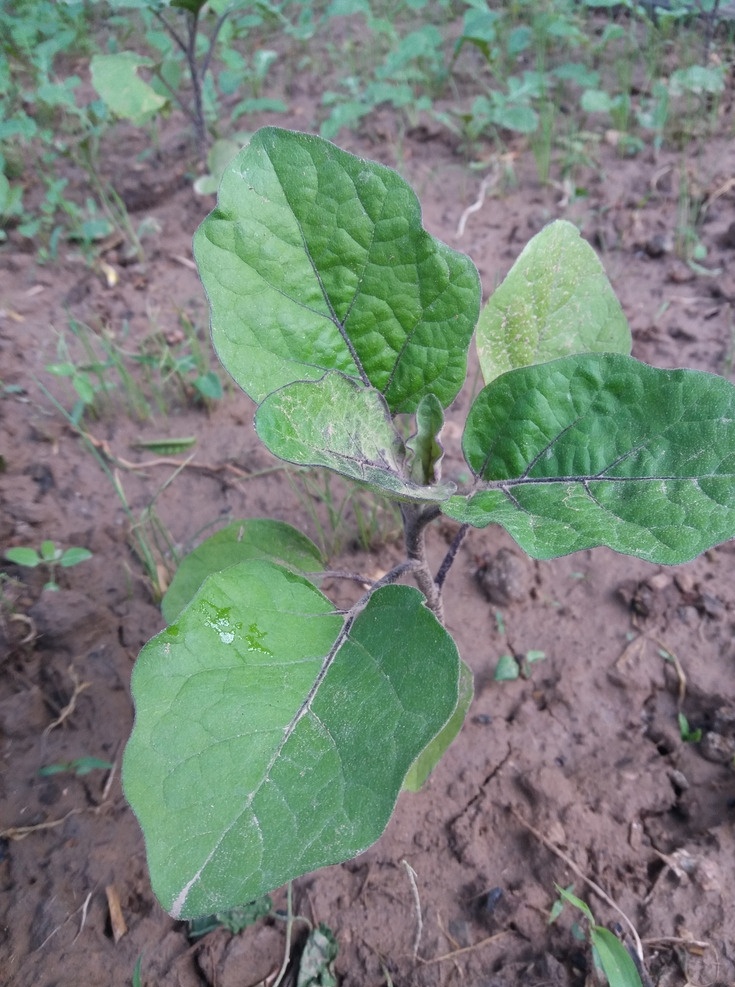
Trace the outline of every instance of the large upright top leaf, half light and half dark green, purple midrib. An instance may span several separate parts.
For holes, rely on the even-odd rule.
[[[389,168],[275,127],[225,171],[194,252],[217,352],[258,403],[340,370],[392,413],[464,382],[480,285]]]

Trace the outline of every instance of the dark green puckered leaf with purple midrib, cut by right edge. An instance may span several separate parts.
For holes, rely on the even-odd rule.
[[[615,354],[513,370],[470,410],[476,492],[442,506],[539,559],[608,545],[679,563],[735,535],[735,388]]]

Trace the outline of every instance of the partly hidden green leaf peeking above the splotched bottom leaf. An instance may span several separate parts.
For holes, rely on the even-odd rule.
[[[207,576],[247,559],[265,559],[301,573],[324,568],[316,545],[290,524],[266,518],[233,521],[182,560],[161,600],[166,623],[176,620]]]

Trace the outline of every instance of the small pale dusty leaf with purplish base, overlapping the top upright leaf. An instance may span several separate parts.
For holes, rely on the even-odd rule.
[[[255,428],[280,459],[324,466],[401,500],[446,500],[453,484],[422,486],[403,474],[403,443],[380,391],[341,373],[270,394]]]

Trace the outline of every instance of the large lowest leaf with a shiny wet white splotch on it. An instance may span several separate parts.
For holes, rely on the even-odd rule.
[[[350,623],[271,563],[210,576],[133,673],[123,780],[163,906],[223,911],[368,847],[458,682],[412,587]]]

